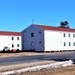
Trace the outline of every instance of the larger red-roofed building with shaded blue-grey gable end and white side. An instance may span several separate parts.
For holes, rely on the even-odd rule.
[[[75,50],[75,29],[32,24],[22,31],[22,49],[27,51]]]

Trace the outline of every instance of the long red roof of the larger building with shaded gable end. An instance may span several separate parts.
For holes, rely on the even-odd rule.
[[[60,27],[44,26],[44,25],[38,25],[38,24],[34,24],[34,25],[37,26],[38,28],[43,29],[43,30],[75,32],[75,29],[71,29],[71,28],[60,28]]]

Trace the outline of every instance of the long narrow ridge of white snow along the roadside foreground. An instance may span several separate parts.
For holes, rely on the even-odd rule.
[[[10,74],[21,74],[25,72],[31,72],[31,71],[40,71],[42,69],[54,69],[54,68],[61,68],[66,66],[73,65],[73,61],[63,61],[63,62],[56,62],[52,64],[46,64],[46,65],[37,65],[33,67],[27,67],[19,70],[13,70],[13,71],[7,71],[7,72],[1,72],[0,75],[10,75]]]

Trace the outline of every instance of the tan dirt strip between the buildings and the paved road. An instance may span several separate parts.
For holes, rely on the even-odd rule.
[[[41,55],[41,54],[61,54],[61,52],[54,52],[54,53],[44,53],[44,52],[18,52],[18,53],[0,53],[0,58],[5,57],[17,57],[17,56],[30,56],[30,55]],[[64,52],[68,53],[68,52]]]

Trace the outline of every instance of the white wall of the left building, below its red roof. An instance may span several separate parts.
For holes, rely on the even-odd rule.
[[[13,40],[12,40],[13,37]],[[19,39],[17,40],[17,37]],[[12,47],[12,44],[14,47]],[[19,46],[17,46],[19,44]],[[19,49],[22,50],[21,48],[21,36],[10,36],[10,35],[0,35],[0,50],[4,48],[4,46],[7,46],[11,49]]]

